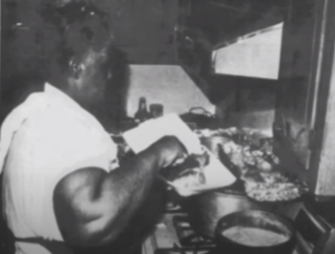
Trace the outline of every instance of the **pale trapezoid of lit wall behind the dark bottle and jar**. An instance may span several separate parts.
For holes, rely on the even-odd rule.
[[[147,106],[160,103],[164,113],[188,113],[193,107],[202,107],[215,113],[215,106],[179,65],[131,65],[127,113],[133,117],[140,97]]]

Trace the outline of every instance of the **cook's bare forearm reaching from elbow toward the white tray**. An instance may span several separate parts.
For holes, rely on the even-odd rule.
[[[108,211],[110,219],[102,241],[112,241],[124,230],[128,221],[146,198],[158,170],[165,166],[166,138],[127,161],[121,168],[112,171],[102,187],[102,197],[112,205]],[[179,148],[182,149],[182,148]]]

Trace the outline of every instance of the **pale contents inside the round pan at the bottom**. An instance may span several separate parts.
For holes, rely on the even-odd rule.
[[[222,232],[222,235],[238,244],[246,246],[274,246],[288,241],[287,235],[278,234],[262,228],[234,226]]]

